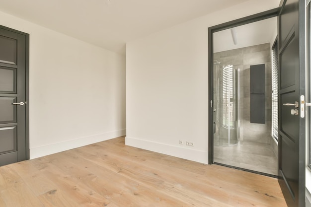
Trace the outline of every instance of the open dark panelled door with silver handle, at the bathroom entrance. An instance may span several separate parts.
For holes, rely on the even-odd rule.
[[[300,35],[304,25],[300,23],[299,6],[302,0],[284,0],[278,17],[279,43],[279,183],[289,207],[304,207],[305,166],[304,118],[300,103],[301,58]],[[300,33],[301,32],[301,33]],[[304,45],[301,45],[304,47]],[[301,65],[301,66],[300,66]],[[304,104],[304,103],[303,103]],[[302,168],[302,166],[304,166]]]

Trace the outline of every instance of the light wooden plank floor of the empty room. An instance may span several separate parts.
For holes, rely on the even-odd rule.
[[[286,207],[276,179],[125,146],[0,167],[0,207]]]

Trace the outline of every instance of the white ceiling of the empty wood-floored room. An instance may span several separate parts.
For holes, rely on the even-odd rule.
[[[0,0],[0,10],[102,48],[247,0]]]

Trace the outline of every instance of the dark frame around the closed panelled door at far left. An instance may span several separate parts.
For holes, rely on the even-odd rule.
[[[30,158],[30,150],[29,150],[29,34],[25,32],[21,32],[15,29],[11,29],[5,26],[0,25],[1,29],[8,30],[10,32],[15,32],[26,37],[26,159]]]

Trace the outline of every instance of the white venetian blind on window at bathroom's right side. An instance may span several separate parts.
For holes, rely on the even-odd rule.
[[[272,81],[271,81],[271,136],[278,140],[279,134],[279,73],[277,44],[272,48]]]

